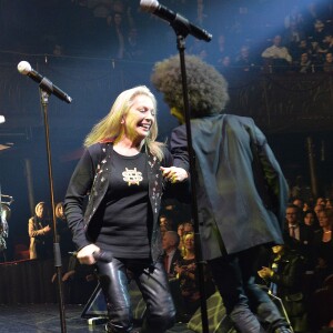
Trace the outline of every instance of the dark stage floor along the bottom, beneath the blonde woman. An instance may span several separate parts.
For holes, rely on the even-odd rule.
[[[105,332],[104,325],[89,325],[81,319],[83,305],[65,305],[65,327],[69,333]],[[58,304],[0,304],[1,333],[47,333],[61,332]],[[178,323],[169,333],[193,333],[186,324]],[[158,333],[158,332],[157,332]]]

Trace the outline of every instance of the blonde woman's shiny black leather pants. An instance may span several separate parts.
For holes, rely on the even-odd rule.
[[[145,260],[113,259],[97,266],[108,305],[109,332],[130,332],[133,326],[129,278],[135,280],[147,304],[141,333],[163,333],[174,324],[175,309],[162,262],[152,266]]]

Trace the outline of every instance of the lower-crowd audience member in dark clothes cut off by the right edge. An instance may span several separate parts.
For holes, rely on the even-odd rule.
[[[316,286],[333,274],[333,210],[324,209],[317,215],[320,229],[313,238],[313,263]]]

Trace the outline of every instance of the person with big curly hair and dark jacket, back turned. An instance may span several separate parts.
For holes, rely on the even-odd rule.
[[[250,118],[223,113],[228,82],[213,67],[185,57],[199,231],[203,259],[239,332],[291,327],[255,283],[261,245],[282,244],[287,184],[262,131]],[[157,62],[151,81],[184,121],[179,57]],[[186,129],[171,133],[174,165],[189,170]]]

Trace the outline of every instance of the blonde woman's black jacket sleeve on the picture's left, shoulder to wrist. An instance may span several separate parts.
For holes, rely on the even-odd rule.
[[[64,214],[78,249],[90,244],[84,230],[84,200],[90,192],[94,178],[94,163],[89,150],[80,159],[64,198]]]

